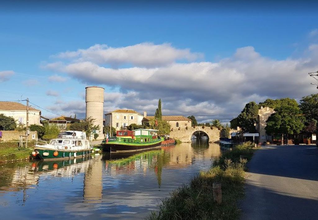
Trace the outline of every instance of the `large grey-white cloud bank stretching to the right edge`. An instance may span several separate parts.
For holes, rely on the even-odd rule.
[[[228,121],[236,117],[245,103],[251,100],[260,102],[266,98],[287,96],[300,99],[317,92],[310,86],[311,79],[307,75],[307,72],[318,69],[316,45],[310,45],[308,54],[302,58],[275,60],[247,46],[238,48],[232,56],[218,62],[180,63],[175,62],[176,58],[169,58],[165,65],[158,59],[157,65],[152,63],[155,59],[147,60],[152,49],[149,49],[150,52],[140,50],[139,53],[133,50],[131,53],[144,62],[141,65],[139,61],[130,61],[135,66],[125,68],[100,65],[109,60],[124,60],[117,55],[120,53],[118,48],[114,53],[110,52],[113,49],[108,49],[95,45],[93,49],[61,53],[59,58],[71,60],[53,68],[84,84],[119,87],[120,91],[116,93],[106,91],[105,112],[131,108],[140,113],[146,110],[150,115],[161,98],[165,115],[195,115],[200,121],[216,118]],[[125,47],[123,50],[130,49]],[[183,58],[189,60],[187,56]]]

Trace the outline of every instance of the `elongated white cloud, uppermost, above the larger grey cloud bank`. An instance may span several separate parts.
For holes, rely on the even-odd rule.
[[[97,64],[109,64],[112,66],[132,64],[154,67],[168,65],[176,60],[196,60],[202,58],[203,55],[201,53],[192,53],[189,49],[176,49],[171,44],[142,43],[117,48],[96,44],[88,49],[62,52],[54,57],[77,59],[79,62],[93,61]],[[60,63],[51,64],[51,67],[52,65],[60,65]]]

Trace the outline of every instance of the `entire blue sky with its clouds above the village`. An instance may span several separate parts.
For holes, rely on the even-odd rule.
[[[208,10],[204,7],[205,2],[202,2],[201,6],[195,5],[195,10],[192,10],[191,5],[178,10],[178,4],[175,3],[173,6],[176,10],[173,10],[164,4],[154,9],[147,5],[138,7],[138,4],[132,8],[121,8],[119,3],[94,3],[94,7],[79,4],[75,6],[76,10],[72,9],[71,5],[53,7],[37,2],[33,2],[29,8],[14,7],[10,4],[4,5],[7,10],[3,10],[2,7],[0,73],[4,72],[7,77],[3,80],[0,78],[1,100],[18,100],[22,94],[23,98],[28,97],[33,103],[58,114],[77,113],[85,117],[85,101],[82,98],[85,86],[97,85],[105,87],[105,97],[112,97],[105,100],[105,113],[116,108],[134,108],[153,114],[156,102],[161,98],[165,114],[193,114],[201,121],[209,121],[215,118],[231,120],[249,100],[258,102],[264,98],[286,96],[299,100],[304,95],[316,92],[315,88],[310,86],[312,80],[307,75],[309,70],[313,72],[318,68],[315,65],[315,61],[318,61],[315,49],[318,40],[318,20],[316,13],[311,13],[310,5],[308,8],[302,5],[299,9],[295,7],[282,10],[283,7],[278,7],[277,10],[273,10],[270,7],[262,8],[261,4],[254,7],[244,7],[244,3],[239,7],[218,4],[217,7],[212,7],[213,10]],[[101,6],[98,7],[98,4]],[[300,3],[299,5],[301,6]],[[126,59],[121,60],[120,64],[110,61],[117,58],[108,56],[116,56],[117,53],[108,54],[107,49],[119,48],[120,51],[120,48],[139,44],[148,44],[145,50],[149,44],[149,50],[151,45],[169,45],[167,47],[172,48],[177,55],[169,61],[162,61],[162,58],[167,56],[167,47],[164,47],[158,53],[158,57],[151,60],[151,65],[142,61],[136,64],[132,61],[134,56],[140,55],[139,53],[148,56],[147,51],[139,51],[137,48],[133,52],[135,54],[126,54]],[[97,61],[95,58],[98,54],[87,58],[81,53],[76,59],[59,56],[62,52],[87,50],[94,45],[107,45],[100,49],[107,52],[107,60]],[[245,49],[238,55],[239,48]],[[189,49],[189,53],[185,55],[186,49]],[[307,59],[310,60],[310,65],[307,65]],[[100,70],[101,72],[97,71],[100,79],[79,74],[83,70],[77,66],[87,61],[98,65],[99,69],[107,68]],[[48,64],[52,63],[62,63],[63,68],[48,68]],[[209,65],[205,68],[209,69],[208,72],[183,66],[193,64],[201,67],[203,63]],[[76,65],[76,69],[67,69],[66,66],[70,64]],[[249,68],[247,65],[250,65]],[[293,65],[295,66],[292,69],[284,69]],[[215,66],[218,68],[213,69]],[[255,66],[259,66],[260,69],[255,69]],[[291,72],[295,78],[291,82],[277,84],[282,88],[275,90],[276,84],[273,85],[271,80],[266,81],[264,74],[267,72],[262,72],[273,66],[279,71],[273,75],[268,74],[269,79],[273,80],[273,77],[277,76],[278,80],[285,81],[287,72],[291,71],[295,71]],[[132,79],[130,83],[129,80],[120,82],[121,80],[114,78],[114,74],[124,74],[123,71],[128,72],[125,73],[125,77],[128,77],[126,74],[138,75],[139,72],[134,72],[134,67],[145,68],[142,70],[145,72],[140,73],[144,74],[140,76],[142,78],[149,74],[149,78],[158,77],[162,81],[175,80],[176,84],[189,84],[176,86],[174,89],[172,84],[166,86],[161,83],[152,89],[151,81],[143,81],[138,87],[129,84],[138,84],[139,78]],[[83,68],[87,75],[94,71],[87,66]],[[185,68],[186,73],[180,71],[175,74],[179,71],[176,68]],[[209,84],[203,85],[204,80],[197,80],[199,71],[203,71],[203,78],[211,79],[207,82]],[[160,75],[160,72],[164,72],[163,75]],[[165,74],[166,72],[169,74]],[[230,72],[238,75],[231,75]],[[254,78],[254,75],[258,74],[259,78]],[[52,76],[55,76],[54,80]],[[59,76],[60,80],[56,79],[56,76]],[[240,88],[235,80],[227,80],[236,77],[239,77],[237,81],[253,78],[251,89],[245,91],[246,86]],[[218,82],[220,78],[222,80]],[[300,82],[297,84],[295,81],[298,79]],[[66,81],[61,82],[63,80]],[[260,86],[253,83],[262,80]],[[209,85],[211,88],[223,86],[210,91]],[[236,86],[238,90],[232,90]],[[297,86],[297,89],[293,89],[293,86]],[[266,88],[273,89],[274,92],[264,92]],[[123,98],[121,94],[126,96]],[[176,105],[180,108],[176,108]],[[205,111],[202,112],[200,109]],[[44,110],[42,114],[53,116]]]

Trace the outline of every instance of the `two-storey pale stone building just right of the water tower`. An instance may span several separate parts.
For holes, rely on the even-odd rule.
[[[105,126],[120,130],[121,127],[127,127],[131,124],[142,124],[143,115],[131,109],[117,109],[113,112],[105,114]]]

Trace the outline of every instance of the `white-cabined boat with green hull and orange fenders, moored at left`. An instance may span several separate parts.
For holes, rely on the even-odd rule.
[[[49,143],[37,141],[32,156],[41,160],[57,160],[84,157],[93,153],[88,140],[77,138],[57,138]]]

